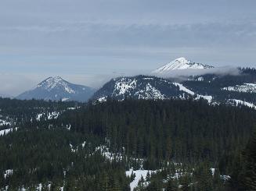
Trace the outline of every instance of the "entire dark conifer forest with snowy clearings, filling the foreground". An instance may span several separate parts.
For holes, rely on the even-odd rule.
[[[2,190],[217,191],[250,185],[241,177],[252,173],[247,143],[254,109],[204,100],[0,101],[2,114],[17,127],[0,136]],[[40,113],[54,109],[55,117]],[[27,119],[17,122],[15,116]]]

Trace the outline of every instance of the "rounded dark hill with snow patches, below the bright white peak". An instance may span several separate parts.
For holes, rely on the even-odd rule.
[[[199,99],[202,97],[211,101],[211,97],[207,95],[195,94],[181,83],[174,83],[157,76],[119,77],[110,80],[96,91],[92,100],[102,102],[106,101],[107,97],[119,101],[123,101],[125,97],[144,100],[186,99],[189,97]]]

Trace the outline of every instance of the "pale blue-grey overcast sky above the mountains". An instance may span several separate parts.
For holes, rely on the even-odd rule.
[[[2,0],[0,94],[49,76],[100,87],[178,57],[256,66],[255,0]]]

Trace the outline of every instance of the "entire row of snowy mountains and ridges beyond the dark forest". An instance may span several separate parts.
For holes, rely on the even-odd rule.
[[[134,99],[204,99],[210,104],[245,104],[256,108],[256,70],[236,69],[234,74],[211,73],[214,66],[200,64],[177,58],[168,65],[160,67],[151,76],[117,77],[95,90],[63,80],[49,77],[33,90],[20,94],[18,99],[44,99],[52,101],[106,101],[114,98],[123,101],[126,97]],[[182,76],[182,79],[163,77],[171,71],[202,71],[202,75]]]

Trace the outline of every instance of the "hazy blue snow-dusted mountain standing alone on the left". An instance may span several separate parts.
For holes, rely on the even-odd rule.
[[[69,83],[61,77],[49,77],[38,83],[33,90],[28,90],[17,96],[17,99],[43,99],[52,101],[88,101],[95,90],[74,83]]]

